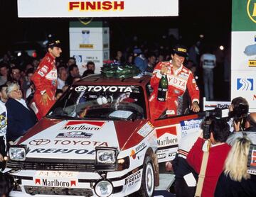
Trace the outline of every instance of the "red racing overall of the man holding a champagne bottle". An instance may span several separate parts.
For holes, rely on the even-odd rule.
[[[166,73],[168,79],[168,91],[166,101],[157,100],[157,92],[159,81],[161,79],[161,67],[168,67]],[[182,96],[188,89],[188,94],[191,97],[191,103],[197,101],[199,103],[199,89],[196,85],[196,80],[193,78],[193,73],[183,65],[178,71],[174,72],[174,66],[170,62],[159,62],[153,71],[153,76],[150,81],[151,87],[154,89],[150,98],[149,106],[150,113],[153,119],[159,116],[166,110],[166,115],[175,116],[178,108],[178,96]]]

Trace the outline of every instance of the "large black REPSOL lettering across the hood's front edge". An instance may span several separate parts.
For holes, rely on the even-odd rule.
[[[86,149],[65,149],[65,148],[36,148],[35,150],[31,150],[31,153],[62,153],[67,154],[70,152],[74,152],[75,154],[95,154],[95,150],[86,150]]]

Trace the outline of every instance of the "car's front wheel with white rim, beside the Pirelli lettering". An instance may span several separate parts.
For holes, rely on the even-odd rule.
[[[138,191],[139,196],[150,197],[154,193],[154,167],[152,159],[146,156],[142,173],[142,185]]]

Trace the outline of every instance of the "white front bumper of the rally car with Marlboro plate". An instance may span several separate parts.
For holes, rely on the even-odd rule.
[[[135,173],[128,170],[109,171],[102,172],[103,176],[97,172],[76,173],[77,176],[73,177],[39,177],[36,170],[11,172],[10,175],[14,178],[16,186],[9,196],[97,196],[94,190],[95,183],[101,179],[107,179],[113,185],[111,196],[119,197],[138,191],[142,181],[142,167],[137,168]],[[136,176],[135,179],[134,174],[140,174],[140,176]]]

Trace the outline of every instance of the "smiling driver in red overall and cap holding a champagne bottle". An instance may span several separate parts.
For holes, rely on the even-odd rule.
[[[191,111],[198,112],[200,110],[199,103],[199,89],[196,85],[196,80],[193,78],[193,73],[183,66],[183,62],[187,57],[187,49],[182,45],[176,45],[171,53],[170,62],[159,62],[153,71],[151,77],[152,92],[149,103],[152,118],[159,118],[165,112],[166,116],[177,115],[177,108],[179,98],[188,89],[188,94],[191,97]],[[168,90],[166,94],[166,101],[158,101],[157,93],[159,81],[163,74],[166,74],[168,79]]]

